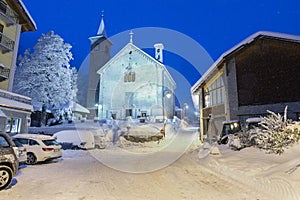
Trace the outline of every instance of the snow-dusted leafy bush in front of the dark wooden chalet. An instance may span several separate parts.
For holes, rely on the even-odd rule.
[[[287,107],[283,116],[272,111],[267,112],[269,115],[259,123],[261,128],[248,131],[249,142],[265,149],[267,153],[282,154],[285,148],[300,140],[300,131],[290,128],[294,122],[287,120]]]

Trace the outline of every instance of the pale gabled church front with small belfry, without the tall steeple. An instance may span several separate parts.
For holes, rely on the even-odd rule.
[[[98,70],[100,119],[173,117],[176,84],[161,62],[162,48],[162,44],[155,45],[157,60],[131,39]]]

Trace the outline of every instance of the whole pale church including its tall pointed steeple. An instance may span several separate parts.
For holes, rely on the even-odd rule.
[[[132,32],[128,39],[110,58],[102,15],[97,36],[90,38],[88,108],[99,119],[172,118],[176,83],[163,64],[163,44],[154,44],[153,58],[133,43]]]

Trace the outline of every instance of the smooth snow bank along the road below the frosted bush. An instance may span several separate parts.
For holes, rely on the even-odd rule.
[[[200,148],[193,156],[215,175],[248,186],[269,199],[300,199],[300,144],[282,155],[266,154],[253,147],[241,151],[224,145],[217,147],[219,155],[207,155]]]

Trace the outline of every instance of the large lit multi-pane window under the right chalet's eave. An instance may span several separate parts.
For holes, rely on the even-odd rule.
[[[204,91],[204,107],[223,104],[225,99],[225,89],[222,77],[215,80]]]

